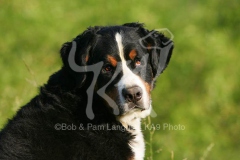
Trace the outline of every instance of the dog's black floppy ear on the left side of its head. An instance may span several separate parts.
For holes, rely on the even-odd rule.
[[[70,63],[78,66],[86,66],[89,60],[90,52],[95,44],[96,32],[99,27],[88,28],[82,34],[73,39],[72,42],[66,42],[60,50],[63,67],[69,71],[76,81],[76,87],[80,87],[86,80],[86,72],[77,72],[71,68]],[[73,49],[73,42],[76,44],[74,53],[74,62],[69,61],[70,52]]]

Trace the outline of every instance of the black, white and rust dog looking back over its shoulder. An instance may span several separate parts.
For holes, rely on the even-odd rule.
[[[141,23],[89,27],[0,132],[1,160],[143,160],[141,118],[173,42]]]

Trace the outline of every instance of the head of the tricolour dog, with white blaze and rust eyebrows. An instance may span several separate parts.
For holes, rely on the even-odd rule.
[[[172,41],[163,34],[128,23],[88,28],[63,45],[61,57],[64,66],[76,73],[76,87],[82,87],[88,72],[93,72],[93,91],[115,114],[144,117],[150,113],[150,92],[172,49]]]

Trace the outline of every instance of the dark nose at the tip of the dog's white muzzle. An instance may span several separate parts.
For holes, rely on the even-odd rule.
[[[140,87],[124,88],[122,95],[128,102],[135,103],[142,98],[142,89]]]

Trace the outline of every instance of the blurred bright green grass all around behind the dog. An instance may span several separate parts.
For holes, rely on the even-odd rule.
[[[175,42],[152,96],[161,129],[146,159],[240,159],[239,8],[238,0],[0,0],[0,128],[60,69],[62,43],[88,26],[139,21],[168,28]]]

